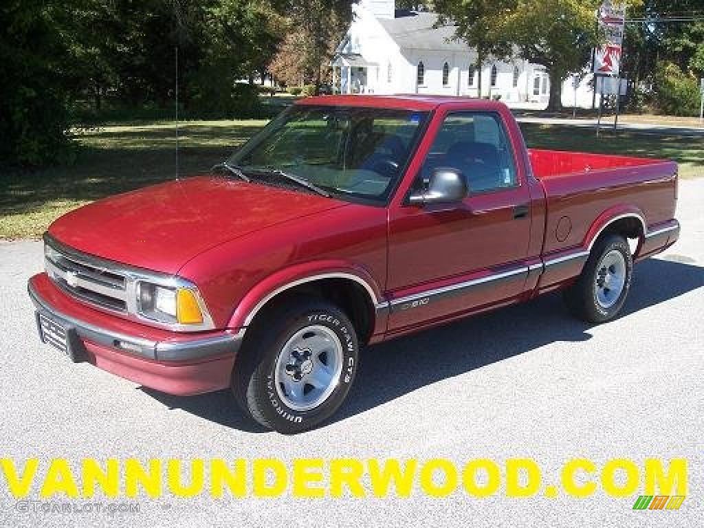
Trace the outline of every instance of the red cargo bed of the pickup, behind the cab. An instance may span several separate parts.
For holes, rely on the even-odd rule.
[[[589,253],[600,219],[623,217],[639,241],[636,258],[662,249],[667,239],[648,237],[672,222],[677,199],[677,163],[652,158],[605,156],[529,149],[533,173],[546,198],[543,256],[581,265]],[[674,199],[673,199],[674,197]],[[635,239],[636,237],[634,237]],[[652,246],[652,247],[651,247]],[[558,284],[579,272],[553,266],[542,287]]]

